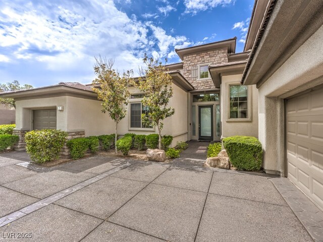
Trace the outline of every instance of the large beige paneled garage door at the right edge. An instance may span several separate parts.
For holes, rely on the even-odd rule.
[[[288,177],[323,208],[323,88],[287,100]]]

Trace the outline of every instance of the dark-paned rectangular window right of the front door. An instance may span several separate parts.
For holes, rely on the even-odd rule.
[[[248,118],[247,86],[230,86],[230,118]]]

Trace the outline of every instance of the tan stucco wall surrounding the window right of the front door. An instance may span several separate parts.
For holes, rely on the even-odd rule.
[[[221,122],[222,137],[230,137],[234,135],[253,136],[258,138],[258,90],[255,85],[248,87],[248,107],[250,107],[251,117],[248,121],[236,122],[234,119],[228,120],[229,117],[229,84],[240,84],[242,75],[223,76],[221,83]]]

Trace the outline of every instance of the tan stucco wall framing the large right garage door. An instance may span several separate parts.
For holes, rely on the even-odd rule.
[[[284,99],[323,83],[323,26],[259,87],[259,140],[265,170],[284,170]]]

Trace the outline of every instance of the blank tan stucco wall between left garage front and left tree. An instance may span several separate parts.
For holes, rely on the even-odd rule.
[[[100,101],[70,96],[66,100],[67,130],[84,130],[85,136],[115,133],[114,122],[101,112]]]

